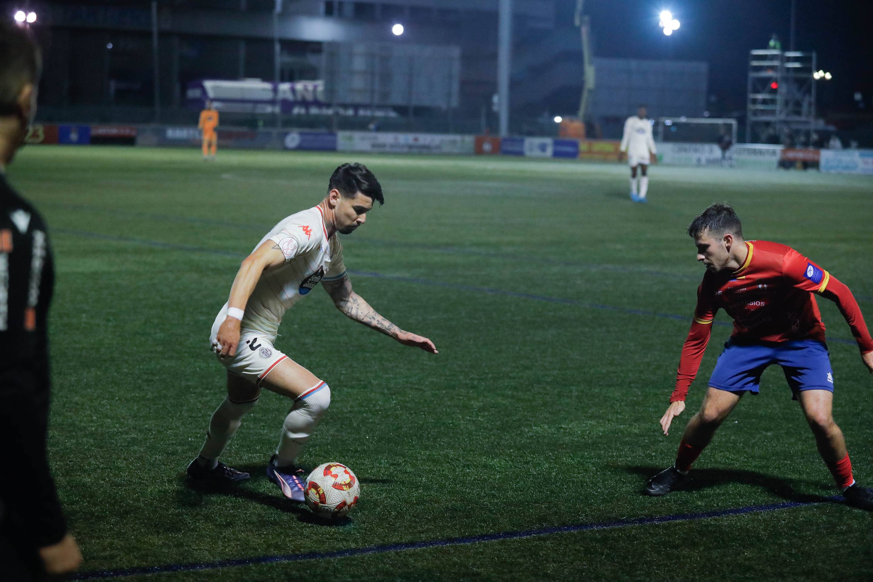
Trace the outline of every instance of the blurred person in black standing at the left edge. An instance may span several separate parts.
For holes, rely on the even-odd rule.
[[[61,579],[82,560],[45,455],[52,252],[5,175],[36,113],[41,61],[29,30],[0,23],[0,579],[16,582]]]

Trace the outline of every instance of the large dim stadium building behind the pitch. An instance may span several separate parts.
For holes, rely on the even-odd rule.
[[[196,122],[190,84],[261,79],[320,81],[326,102],[314,114],[229,111],[225,125],[461,133],[497,125],[497,0],[89,0],[40,10],[45,79],[57,79],[41,87],[43,120]],[[555,132],[543,120],[579,106],[579,32],[560,10],[558,0],[513,2],[514,133]],[[589,121],[604,137],[620,134],[640,102],[654,116],[702,113],[705,63],[596,58],[595,66]],[[358,108],[340,117],[323,107],[338,104]]]

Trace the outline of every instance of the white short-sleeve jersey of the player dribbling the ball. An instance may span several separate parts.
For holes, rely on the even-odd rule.
[[[245,304],[240,328],[276,340],[285,312],[312,291],[320,281],[335,281],[346,274],[342,244],[337,236],[327,238],[320,206],[293,214],[278,223],[255,247],[273,241],[285,255],[285,263],[265,269]],[[227,316],[225,303],[217,323]]]

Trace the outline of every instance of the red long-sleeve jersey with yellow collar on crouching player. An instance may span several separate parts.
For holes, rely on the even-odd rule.
[[[749,253],[739,270],[727,276],[707,271],[698,287],[698,305],[682,348],[670,402],[685,400],[704,357],[718,309],[733,318],[734,339],[823,342],[824,324],[813,296],[817,293],[839,307],[861,353],[873,352],[873,339],[849,287],[784,244],[746,241],[746,246]]]

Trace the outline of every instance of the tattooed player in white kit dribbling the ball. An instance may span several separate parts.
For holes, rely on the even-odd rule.
[[[375,202],[384,202],[375,175],[361,164],[343,164],[318,206],[282,220],[244,259],[210,334],[212,350],[227,368],[227,397],[212,414],[203,449],[188,467],[190,478],[234,483],[249,477],[218,457],[267,388],[293,401],[267,476],[285,497],[303,501],[306,475],[297,457],[330,404],[330,388],[273,343],[285,311],[319,282],[349,318],[404,346],[437,353],[430,339],[404,332],[352,291],[337,233],[354,232]]]

